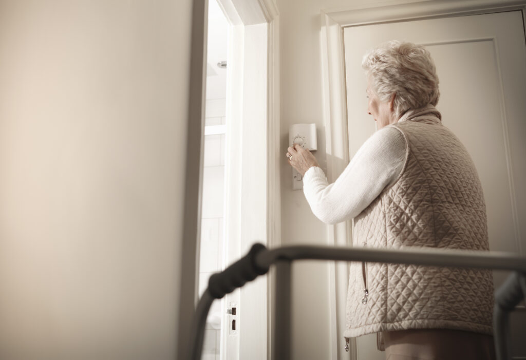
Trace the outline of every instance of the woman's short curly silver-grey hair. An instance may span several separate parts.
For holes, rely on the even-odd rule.
[[[427,104],[437,105],[437,70],[422,45],[392,40],[370,50],[362,60],[370,87],[381,101],[395,97],[395,116]]]

